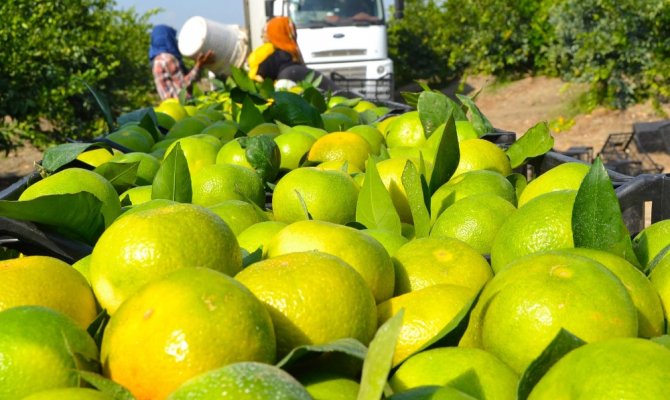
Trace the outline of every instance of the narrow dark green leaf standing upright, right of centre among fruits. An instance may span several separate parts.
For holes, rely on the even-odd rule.
[[[430,175],[430,181],[428,182],[431,196],[451,178],[456,171],[456,167],[458,167],[460,151],[453,114],[449,116],[444,130],[437,131],[435,134],[440,134],[442,137],[435,152],[435,159],[432,160],[433,173]]]

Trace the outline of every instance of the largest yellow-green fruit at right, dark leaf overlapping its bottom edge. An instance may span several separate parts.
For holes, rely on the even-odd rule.
[[[460,345],[490,351],[521,374],[561,329],[586,342],[635,337],[637,310],[602,264],[539,253],[508,264],[484,287]]]

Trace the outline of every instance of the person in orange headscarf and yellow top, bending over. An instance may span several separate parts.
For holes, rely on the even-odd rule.
[[[300,82],[310,73],[321,77],[319,88],[337,90],[330,79],[305,66],[298,47],[295,25],[288,17],[274,17],[265,24],[264,44],[256,48],[247,58],[249,77],[257,81],[264,79]]]

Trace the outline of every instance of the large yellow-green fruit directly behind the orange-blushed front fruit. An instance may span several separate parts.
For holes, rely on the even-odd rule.
[[[207,267],[234,275],[242,268],[232,230],[212,211],[192,204],[119,218],[92,254],[91,284],[110,315],[142,285],[176,269]]]

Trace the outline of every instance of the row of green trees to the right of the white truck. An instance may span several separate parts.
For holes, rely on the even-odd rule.
[[[468,73],[591,83],[593,103],[670,95],[667,0],[405,0],[391,23],[399,83]]]

